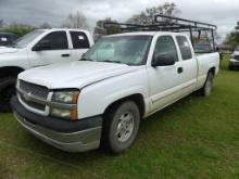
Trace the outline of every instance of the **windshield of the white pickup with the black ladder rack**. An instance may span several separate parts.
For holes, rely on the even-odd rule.
[[[81,60],[142,65],[151,36],[105,37],[99,40]]]

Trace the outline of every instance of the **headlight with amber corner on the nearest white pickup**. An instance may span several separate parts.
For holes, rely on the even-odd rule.
[[[78,95],[79,91],[54,92],[51,102],[56,103],[58,107],[51,107],[51,115],[72,120],[78,119]],[[70,108],[71,105],[75,105],[75,107]]]

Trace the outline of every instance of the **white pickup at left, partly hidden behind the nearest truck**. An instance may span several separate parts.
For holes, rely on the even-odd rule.
[[[77,61],[93,44],[87,30],[37,29],[0,48],[0,111],[8,111],[17,75],[28,68]]]

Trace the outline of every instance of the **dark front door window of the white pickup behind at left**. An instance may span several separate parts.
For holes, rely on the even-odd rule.
[[[41,43],[41,42],[48,42],[49,43],[50,49],[48,49],[48,50],[68,49],[68,41],[67,41],[67,37],[66,37],[65,31],[50,33],[42,40],[40,40],[39,43]]]

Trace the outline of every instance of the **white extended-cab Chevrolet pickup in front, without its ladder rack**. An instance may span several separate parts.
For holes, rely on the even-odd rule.
[[[210,95],[218,69],[219,54],[197,56],[184,34],[118,34],[80,61],[20,74],[11,105],[24,128],[55,148],[121,153],[141,118],[193,91]]]

